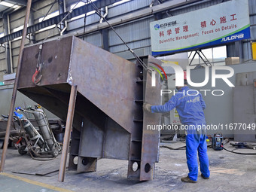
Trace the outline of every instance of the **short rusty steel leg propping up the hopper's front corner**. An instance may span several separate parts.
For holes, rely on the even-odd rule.
[[[63,140],[62,155],[61,155],[60,166],[59,166],[60,182],[63,182],[65,178],[66,162],[67,162],[67,157],[69,153],[69,140],[70,140],[70,134],[72,130],[76,96],[77,96],[77,86],[72,85],[70,98],[69,98],[69,110],[68,110],[68,115],[66,120],[66,130],[65,130],[64,140]]]

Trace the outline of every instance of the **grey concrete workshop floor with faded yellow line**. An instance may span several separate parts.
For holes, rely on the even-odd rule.
[[[184,144],[164,145],[177,148]],[[229,144],[226,148],[233,149]],[[254,153],[253,150],[237,151]],[[65,182],[61,183],[54,172],[59,169],[60,155],[55,160],[38,161],[29,155],[20,156],[17,150],[9,148],[5,172],[0,173],[0,191],[256,191],[256,156],[213,151],[212,148],[208,154],[211,177],[209,180],[199,177],[196,184],[181,182],[181,177],[187,175],[185,151],[167,148],[160,148],[160,162],[156,163],[153,181],[129,180],[126,178],[127,161],[102,159],[98,161],[97,172],[67,171]],[[35,175],[50,170],[53,172],[49,175]]]

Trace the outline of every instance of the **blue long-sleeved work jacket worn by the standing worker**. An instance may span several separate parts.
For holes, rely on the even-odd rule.
[[[184,125],[206,124],[203,113],[206,103],[203,101],[201,93],[190,90],[187,86],[178,90],[164,105],[151,106],[151,111],[152,113],[165,113],[173,108],[177,109],[181,123]]]

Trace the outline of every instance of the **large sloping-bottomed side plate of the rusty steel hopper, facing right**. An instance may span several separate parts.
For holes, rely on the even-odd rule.
[[[130,132],[133,126],[136,66],[74,38],[68,81],[78,92]]]

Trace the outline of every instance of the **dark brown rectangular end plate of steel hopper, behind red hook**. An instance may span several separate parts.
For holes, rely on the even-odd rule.
[[[26,47],[23,53],[23,65],[20,72],[19,89],[35,87],[32,76],[38,62],[38,50],[40,44]],[[72,51],[72,37],[42,44],[41,65],[39,75],[42,75],[40,86],[50,84],[62,84],[67,82],[69,72],[70,54]]]

